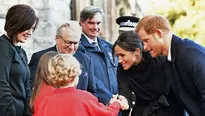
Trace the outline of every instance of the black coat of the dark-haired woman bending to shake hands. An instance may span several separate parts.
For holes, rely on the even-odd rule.
[[[165,57],[154,59],[143,52],[144,60],[124,70],[118,67],[119,93],[131,100],[136,95],[132,116],[183,116],[183,108],[170,89],[161,65]]]

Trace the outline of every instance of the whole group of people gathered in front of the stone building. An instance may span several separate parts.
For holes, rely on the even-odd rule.
[[[56,44],[27,60],[39,18],[9,8],[0,36],[2,116],[205,116],[205,48],[173,34],[167,18],[116,19],[114,44],[99,36],[103,10],[59,24]]]

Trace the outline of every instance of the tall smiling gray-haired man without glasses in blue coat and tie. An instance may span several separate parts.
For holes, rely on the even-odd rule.
[[[100,102],[107,105],[112,96],[118,93],[117,60],[115,62],[113,60],[112,44],[98,37],[102,16],[102,9],[94,6],[85,7],[80,12],[80,25],[83,33],[78,50],[92,59],[93,72],[98,81],[97,96]]]

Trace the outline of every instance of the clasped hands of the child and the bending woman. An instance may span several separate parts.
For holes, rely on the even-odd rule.
[[[109,104],[112,104],[115,101],[120,103],[122,110],[128,110],[129,109],[128,101],[127,101],[127,99],[124,96],[118,95],[118,94],[117,95],[113,95],[111,100],[110,100],[110,102],[109,102]]]

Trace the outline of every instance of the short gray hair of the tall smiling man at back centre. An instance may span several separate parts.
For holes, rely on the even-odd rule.
[[[96,13],[100,13],[101,15],[104,15],[103,10],[99,7],[95,7],[95,6],[88,6],[85,7],[81,12],[80,12],[80,19],[82,21],[85,21],[87,19],[91,19],[93,18],[93,16]]]

